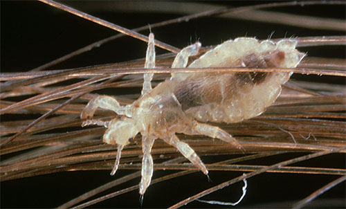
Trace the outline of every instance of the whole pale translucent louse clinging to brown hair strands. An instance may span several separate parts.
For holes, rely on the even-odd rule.
[[[190,64],[190,68],[246,67],[246,68],[294,68],[304,57],[295,49],[296,42],[284,39],[277,44],[266,40],[258,42],[254,38],[228,40],[208,51]],[[172,68],[187,66],[188,57],[196,55],[201,44],[184,48],[172,64]],[[154,68],[154,35],[149,35],[145,68]],[[111,174],[118,168],[122,148],[138,133],[143,137],[143,165],[140,194],[144,194],[152,179],[153,160],[150,155],[156,138],[166,143],[188,158],[204,173],[206,166],[186,143],[176,137],[176,133],[206,135],[219,138],[241,148],[237,140],[226,131],[203,122],[239,122],[253,118],[273,104],[280,95],[281,85],[289,80],[292,73],[172,73],[152,89],[152,74],[144,75],[142,96],[133,104],[120,106],[116,99],[98,96],[82,111],[81,118],[91,119],[100,107],[122,115],[109,122],[86,120],[84,125],[104,125],[105,143],[118,145],[116,164]]]

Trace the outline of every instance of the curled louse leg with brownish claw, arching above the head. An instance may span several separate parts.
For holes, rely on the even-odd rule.
[[[122,107],[115,98],[110,96],[98,96],[89,101],[80,114],[80,118],[93,118],[93,114],[98,107],[115,111],[118,115],[131,117],[131,105]]]

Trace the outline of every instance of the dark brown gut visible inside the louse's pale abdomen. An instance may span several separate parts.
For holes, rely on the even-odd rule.
[[[283,51],[277,50],[260,55],[251,53],[243,60],[237,60],[235,67],[265,69],[280,66],[283,61]],[[271,75],[273,73],[262,72],[195,74],[190,80],[179,82],[174,94],[185,111],[190,107],[198,107],[210,102],[221,103],[230,100],[237,95],[237,90],[249,90],[258,84],[268,82]]]

